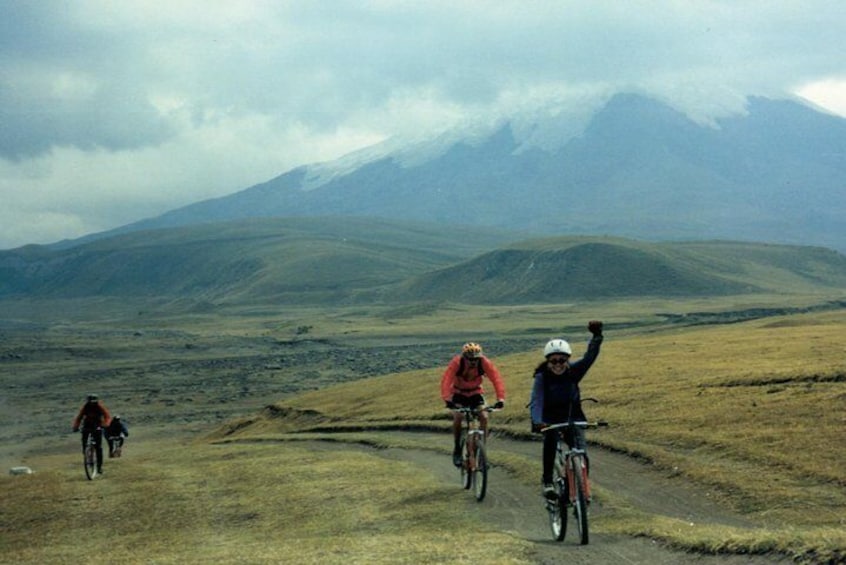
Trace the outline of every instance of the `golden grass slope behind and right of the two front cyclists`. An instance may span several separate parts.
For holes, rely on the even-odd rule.
[[[764,528],[727,538],[719,529],[682,532],[642,517],[609,527],[714,551],[764,544],[797,554],[822,544],[820,551],[846,552],[844,336],[843,311],[608,334],[582,387],[601,399],[589,414],[612,424],[592,439],[709,485]],[[584,344],[573,341],[578,355]],[[538,360],[539,353],[495,359],[509,389],[509,409],[496,415],[499,429],[526,432],[523,407]],[[242,433],[407,421],[445,426],[439,378],[438,371],[414,371],[304,394],[278,408],[313,411],[311,417],[258,418]]]

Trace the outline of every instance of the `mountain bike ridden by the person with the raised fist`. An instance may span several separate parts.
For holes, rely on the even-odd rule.
[[[546,510],[549,513],[549,526],[552,537],[556,541],[563,541],[567,534],[567,510],[573,509],[573,517],[579,531],[579,542],[587,545],[588,533],[588,505],[590,504],[590,479],[588,477],[588,460],[584,449],[571,448],[567,439],[573,439],[576,428],[598,428],[607,426],[607,422],[570,421],[563,424],[552,424],[541,431],[543,433],[558,434],[556,445],[555,465],[552,470],[552,483],[557,495],[553,499],[544,498]],[[575,444],[575,442],[570,442]]]

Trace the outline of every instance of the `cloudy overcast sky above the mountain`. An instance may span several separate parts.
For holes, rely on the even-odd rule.
[[[846,116],[844,37],[843,0],[0,0],[0,249],[588,95]]]

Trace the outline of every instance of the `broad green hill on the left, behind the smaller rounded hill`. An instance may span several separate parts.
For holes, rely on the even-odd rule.
[[[337,302],[513,235],[362,218],[245,220],[0,253],[0,296]]]

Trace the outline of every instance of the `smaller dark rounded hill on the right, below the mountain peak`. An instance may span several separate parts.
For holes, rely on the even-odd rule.
[[[846,288],[846,257],[817,247],[563,237],[509,245],[401,285],[469,304],[694,297]]]

